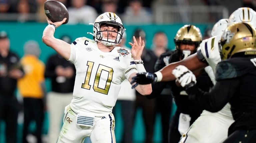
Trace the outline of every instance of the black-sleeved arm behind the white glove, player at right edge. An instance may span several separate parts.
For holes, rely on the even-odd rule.
[[[187,87],[189,99],[210,112],[221,110],[235,94],[239,86],[238,79],[218,81],[210,92],[203,92],[197,86]]]

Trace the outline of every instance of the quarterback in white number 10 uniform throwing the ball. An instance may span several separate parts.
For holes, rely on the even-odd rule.
[[[43,32],[43,42],[74,63],[76,79],[73,99],[65,107],[65,117],[57,142],[81,143],[90,137],[92,143],[115,143],[115,106],[120,84],[137,72],[146,72],[141,60],[145,46],[141,37],[131,51],[115,47],[121,42],[125,28],[121,19],[111,12],[99,15],[93,24],[94,39],[77,38],[72,44],[54,37],[61,22],[52,23]],[[135,88],[142,95],[152,92],[151,84]]]

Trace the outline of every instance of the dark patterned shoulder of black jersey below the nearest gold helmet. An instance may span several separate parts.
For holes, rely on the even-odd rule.
[[[237,71],[230,62],[222,61],[218,63],[215,73],[216,81],[235,78],[237,76]]]

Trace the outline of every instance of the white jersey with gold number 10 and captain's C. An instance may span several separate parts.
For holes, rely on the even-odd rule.
[[[76,67],[71,108],[77,113],[106,116],[115,106],[120,84],[137,72],[130,51],[101,51],[95,40],[80,37],[71,44],[69,61]]]

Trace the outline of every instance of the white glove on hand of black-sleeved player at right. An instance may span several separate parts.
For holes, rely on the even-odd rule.
[[[176,77],[182,87],[191,87],[196,84],[196,76],[183,65],[179,65],[172,70],[172,74]]]

